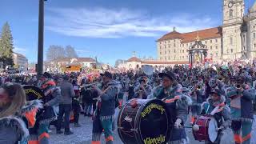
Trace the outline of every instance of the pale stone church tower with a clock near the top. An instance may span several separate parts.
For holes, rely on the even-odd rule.
[[[244,0],[223,0],[222,58],[242,57],[242,22]]]

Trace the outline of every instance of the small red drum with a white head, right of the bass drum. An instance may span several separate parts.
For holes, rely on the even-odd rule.
[[[212,115],[201,115],[195,118],[193,126],[198,125],[199,130],[194,131],[194,139],[204,142],[215,142],[218,138],[218,123]]]

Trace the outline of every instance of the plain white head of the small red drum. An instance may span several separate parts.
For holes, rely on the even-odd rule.
[[[218,137],[218,124],[215,118],[210,118],[208,134],[210,142],[215,142]]]

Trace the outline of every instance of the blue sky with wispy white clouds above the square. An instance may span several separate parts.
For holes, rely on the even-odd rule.
[[[222,25],[223,0],[48,0],[45,51],[74,46],[80,57],[114,64],[136,51],[156,58],[156,40],[173,30],[189,32]],[[246,11],[254,0],[245,0]],[[1,0],[0,26],[9,22],[14,51],[37,62],[38,0]],[[45,55],[46,58],[46,55]]]

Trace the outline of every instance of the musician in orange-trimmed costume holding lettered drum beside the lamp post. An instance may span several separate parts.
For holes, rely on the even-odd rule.
[[[35,124],[30,128],[29,144],[49,144],[50,134],[48,132],[48,127],[50,122],[57,118],[52,106],[58,104],[60,90],[56,87],[50,74],[44,76],[47,79],[45,82],[42,82],[41,88],[45,94],[45,97],[42,98],[45,106],[42,110],[38,111]]]

